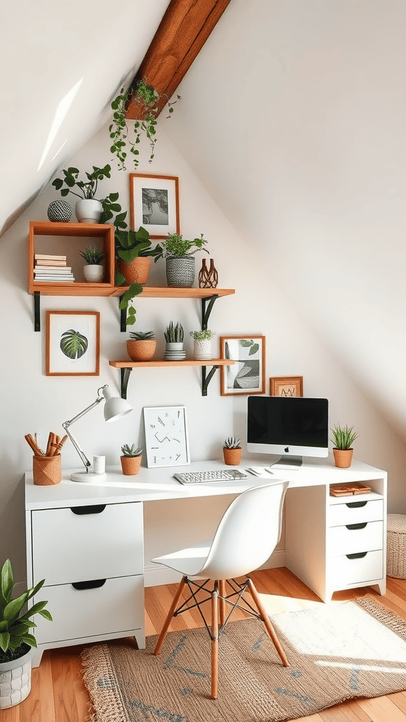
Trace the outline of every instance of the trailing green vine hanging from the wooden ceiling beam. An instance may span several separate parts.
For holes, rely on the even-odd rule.
[[[118,95],[111,103],[113,110],[113,123],[108,127],[111,138],[111,152],[116,156],[118,161],[118,169],[126,170],[127,148],[132,156],[134,168],[139,164],[138,145],[141,142],[142,134],[147,136],[150,142],[150,163],[155,155],[156,125],[157,113],[159,109],[161,96],[152,85],[147,85],[144,80],[136,80],[130,85],[128,90],[121,88]],[[173,103],[168,103],[168,118],[173,113],[173,105],[180,100],[178,95]],[[129,126],[126,121],[126,110],[131,103],[137,103],[139,107],[139,116],[144,116],[143,120],[134,121],[134,141],[129,138]]]

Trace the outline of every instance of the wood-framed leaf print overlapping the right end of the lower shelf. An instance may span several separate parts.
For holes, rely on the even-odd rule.
[[[221,367],[221,396],[265,392],[265,336],[220,336],[220,357],[235,361]]]

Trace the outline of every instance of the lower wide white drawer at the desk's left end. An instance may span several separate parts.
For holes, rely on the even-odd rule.
[[[102,583],[103,580],[98,580]],[[75,589],[72,584],[43,587],[43,598],[53,622],[39,614],[35,637],[38,643],[94,637],[144,625],[144,579],[142,575],[104,580],[103,586]],[[41,597],[42,599],[42,597]]]

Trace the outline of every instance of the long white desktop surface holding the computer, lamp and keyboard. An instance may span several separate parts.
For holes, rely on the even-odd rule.
[[[253,454],[243,458],[238,469],[243,471],[249,466],[269,466],[269,456]],[[232,482],[212,482],[200,484],[180,484],[173,474],[182,471],[209,471],[212,469],[231,469],[224,461],[195,461],[188,466],[170,466],[162,469],[142,467],[135,477],[126,477],[121,466],[107,470],[105,477],[89,482],[72,482],[70,474],[76,469],[62,471],[62,481],[51,486],[33,484],[33,474],[25,474],[25,504],[27,510],[59,508],[70,505],[125,503],[132,501],[157,501],[165,499],[188,499],[193,497],[221,496],[239,494],[250,487],[267,484],[272,480],[287,479],[290,487],[314,487],[334,483],[360,482],[386,478],[386,471],[353,461],[349,469],[337,469],[334,458],[303,461],[299,469],[274,469],[267,478],[254,477]]]

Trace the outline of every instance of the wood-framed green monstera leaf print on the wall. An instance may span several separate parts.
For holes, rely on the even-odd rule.
[[[46,375],[98,376],[100,313],[46,312]]]

